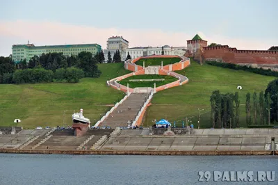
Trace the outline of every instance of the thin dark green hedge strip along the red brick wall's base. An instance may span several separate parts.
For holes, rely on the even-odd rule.
[[[218,67],[223,68],[229,68],[232,70],[244,70],[247,72],[254,72],[256,74],[262,74],[265,76],[272,76],[272,77],[278,77],[278,72],[272,71],[272,70],[264,70],[263,68],[254,68],[254,67],[248,67],[246,65],[236,65],[234,63],[219,63],[216,61],[206,61],[208,65],[215,65]]]

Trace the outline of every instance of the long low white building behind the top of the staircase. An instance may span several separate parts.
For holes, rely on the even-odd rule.
[[[131,59],[138,58],[140,56],[161,55],[164,51],[164,55],[177,55],[183,56],[186,53],[186,47],[170,47],[165,45],[163,47],[132,47],[126,49],[126,56],[131,56]]]

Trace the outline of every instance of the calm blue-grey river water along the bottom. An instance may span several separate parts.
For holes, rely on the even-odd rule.
[[[199,182],[200,170],[211,175],[275,171],[276,177],[274,182],[214,182],[211,176]],[[0,184],[278,184],[278,156],[0,154]]]

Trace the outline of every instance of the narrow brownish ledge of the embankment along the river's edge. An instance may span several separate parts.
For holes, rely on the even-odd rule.
[[[278,151],[140,151],[140,150],[0,150],[6,154],[91,154],[91,155],[278,155]]]

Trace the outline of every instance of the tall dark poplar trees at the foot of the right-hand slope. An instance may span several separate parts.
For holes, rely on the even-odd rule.
[[[238,92],[211,94],[211,122],[213,128],[240,127],[240,101]],[[278,122],[278,79],[270,81],[265,92],[247,93],[245,99],[246,124],[248,127],[272,127]]]

